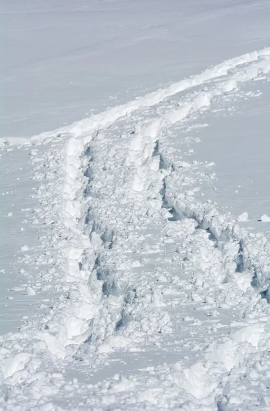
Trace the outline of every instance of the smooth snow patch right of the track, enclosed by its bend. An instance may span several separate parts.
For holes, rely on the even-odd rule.
[[[211,152],[215,151],[211,170],[217,178],[202,188],[204,195],[230,211],[235,219],[247,212],[245,227],[263,231],[270,238],[269,227],[258,222],[261,214],[269,214],[270,206],[268,107],[269,82],[252,82],[244,86],[241,98],[233,105],[228,101],[206,112],[203,123],[207,127],[200,127],[201,121],[195,120],[186,134],[195,138],[200,132],[200,147],[190,158],[211,162]]]

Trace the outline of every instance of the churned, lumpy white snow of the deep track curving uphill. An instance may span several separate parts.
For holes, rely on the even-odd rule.
[[[269,410],[270,245],[194,200],[211,169],[170,144],[269,71],[255,51],[25,143],[51,230],[35,264],[59,297],[1,337],[1,409]],[[150,351],[173,360],[87,382]]]

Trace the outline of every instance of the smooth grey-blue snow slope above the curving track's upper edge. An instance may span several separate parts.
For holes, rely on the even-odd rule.
[[[29,137],[269,44],[269,2],[20,0],[1,7],[1,136]]]

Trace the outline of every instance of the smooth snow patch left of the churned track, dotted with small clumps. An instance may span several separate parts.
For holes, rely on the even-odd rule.
[[[8,148],[0,159],[1,170],[1,291],[0,333],[15,331],[21,325],[21,317],[31,313],[40,305],[40,297],[26,297],[25,288],[35,282],[35,268],[29,265],[25,252],[37,245],[34,219],[29,217],[38,208],[33,200],[33,188],[37,187],[29,178],[33,173],[30,151]],[[39,253],[39,251],[38,251]],[[41,290],[40,290],[41,291]]]

